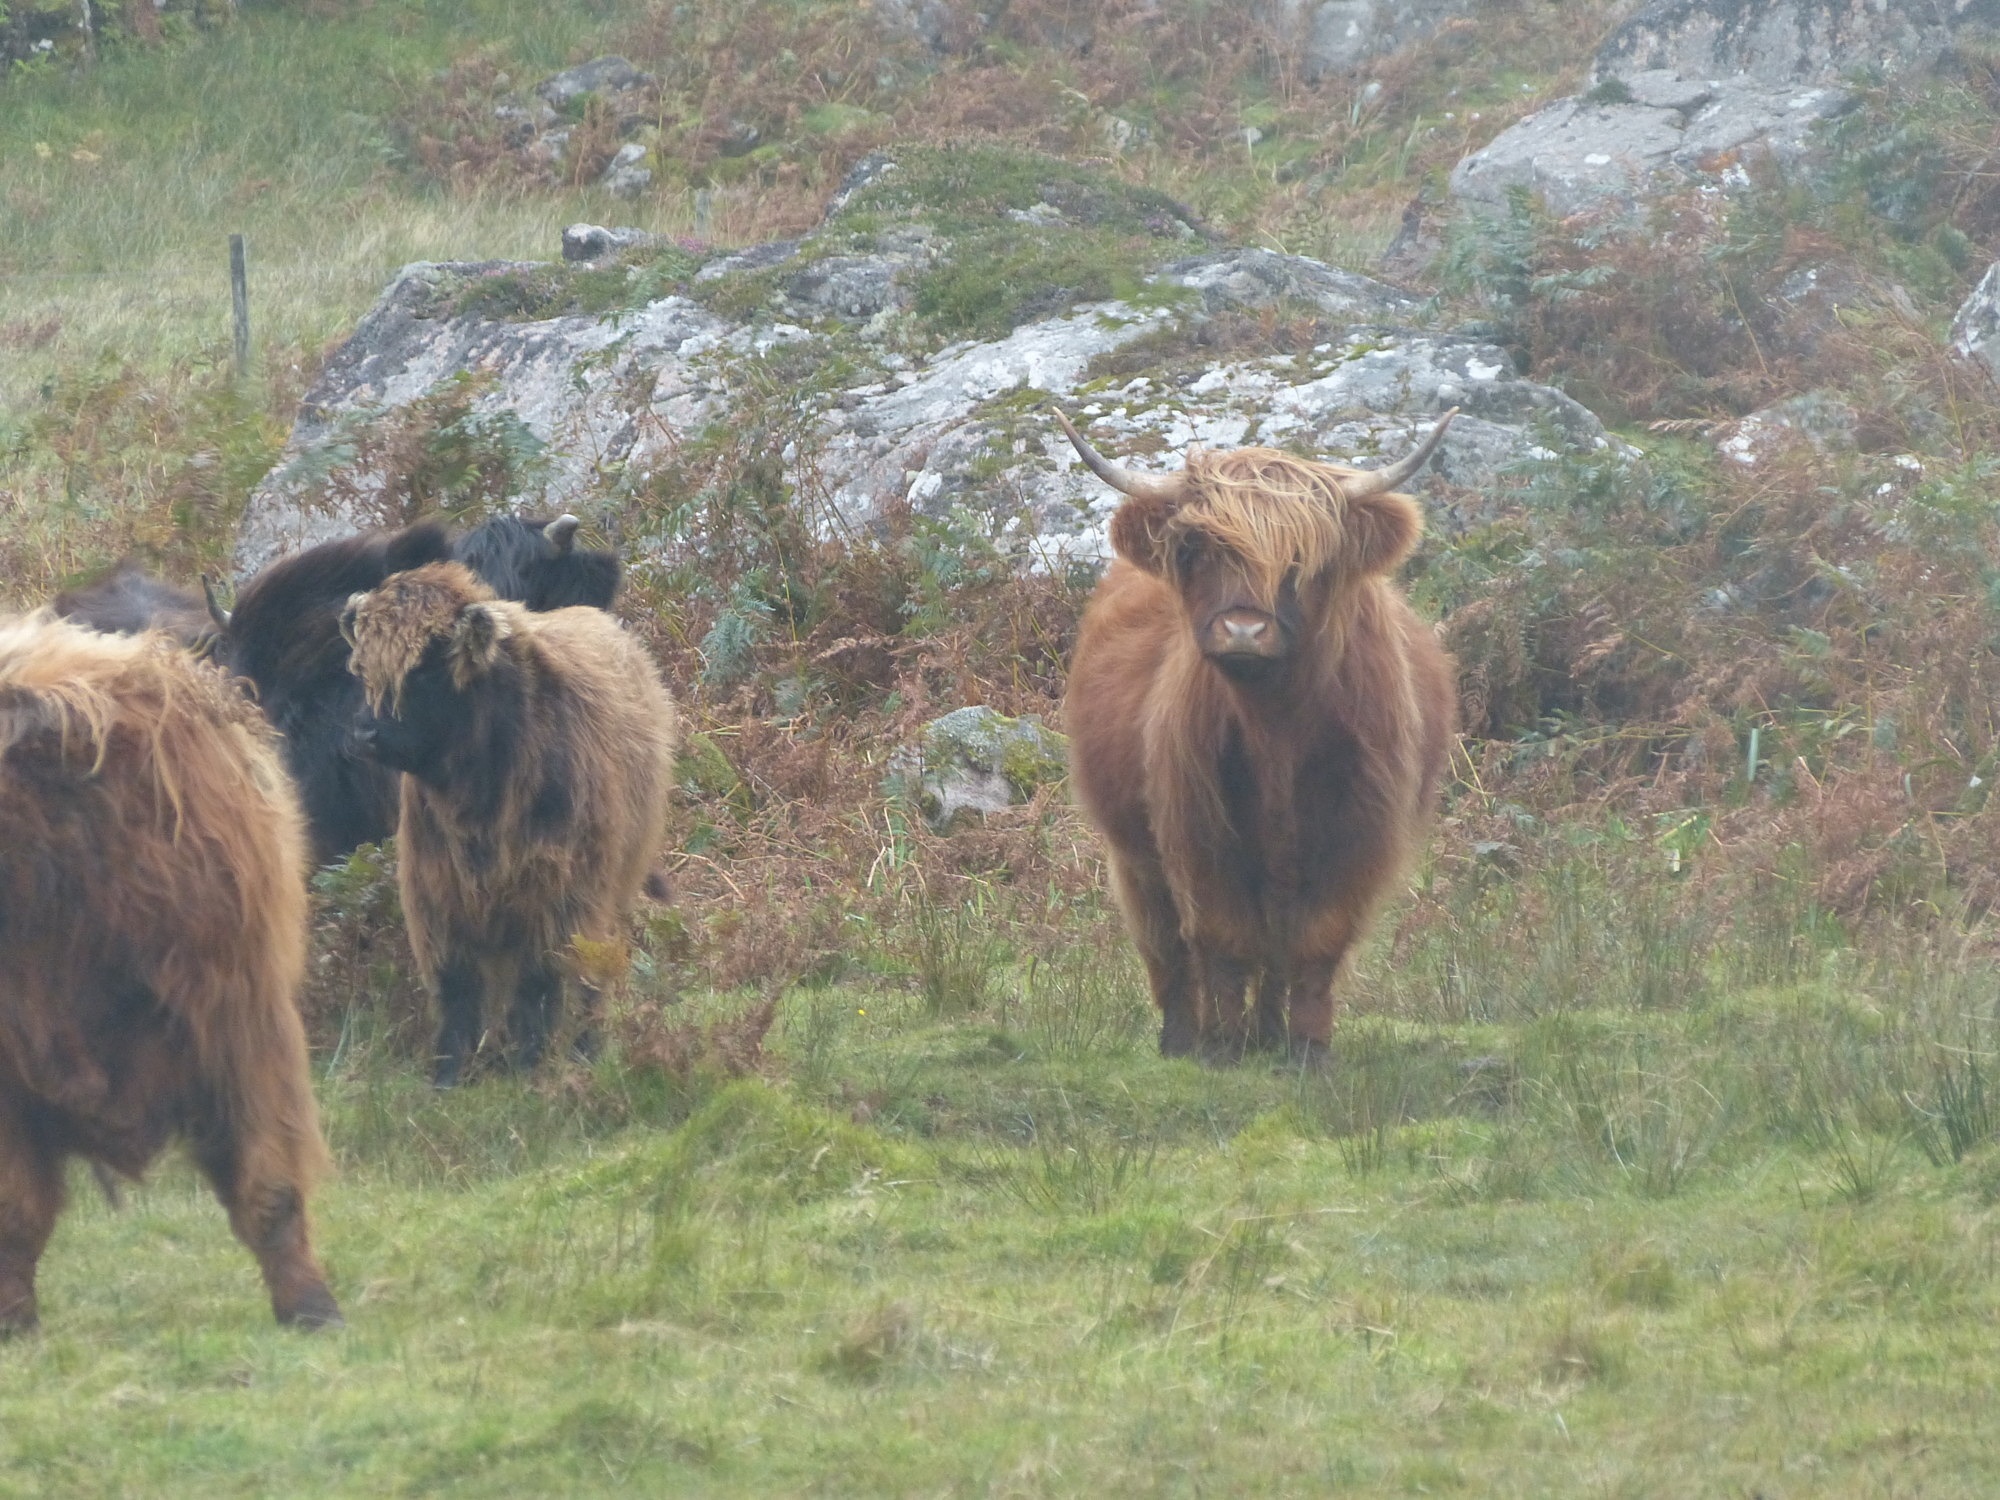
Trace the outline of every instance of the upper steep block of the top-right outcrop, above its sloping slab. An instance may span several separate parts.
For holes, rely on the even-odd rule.
[[[1666,70],[1740,76],[1772,90],[1836,84],[1856,68],[1934,62],[1968,26],[2000,24],[2000,0],[1654,0],[1598,50],[1600,78]]]

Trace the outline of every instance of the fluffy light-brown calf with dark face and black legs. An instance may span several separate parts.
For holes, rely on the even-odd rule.
[[[508,990],[534,1066],[572,938],[622,936],[666,838],[674,700],[602,610],[534,614],[456,562],[386,578],[340,628],[370,708],[358,740],[404,772],[402,910],[438,994],[436,1082]]]

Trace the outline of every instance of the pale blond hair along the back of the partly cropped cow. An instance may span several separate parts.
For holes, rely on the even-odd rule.
[[[176,840],[188,794],[182,774],[200,766],[160,746],[188,722],[234,724],[258,744],[276,738],[264,714],[220,670],[196,662],[158,630],[108,636],[48,610],[0,624],[0,754],[52,728],[64,758],[88,756],[96,774],[114,734],[138,736]]]

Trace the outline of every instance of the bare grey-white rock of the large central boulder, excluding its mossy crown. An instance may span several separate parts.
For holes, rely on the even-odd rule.
[[[590,254],[588,274],[602,278],[620,264],[616,240],[576,226],[566,252]],[[624,254],[644,258],[646,246]],[[1178,464],[1190,444],[1248,442],[1374,466],[1452,406],[1464,416],[1420,486],[1490,488],[1522,460],[1608,446],[1590,412],[1522,380],[1484,336],[1414,326],[1422,306],[1408,294],[1268,250],[1170,260],[1142,298],[912,352],[914,290],[950,254],[922,224],[854,234],[836,222],[710,260],[680,290],[604,316],[492,312],[518,308],[514,290],[560,278],[560,266],[410,266],[308,392],[284,462],[250,498],[236,562],[250,570],[400,514],[368,434],[452,382],[476,416],[510,418],[544,444],[514,504],[616,512],[686,442],[720,432],[746,382],[768,382],[752,366],[788,346],[838,354],[828,368],[854,372],[798,394],[814,430],[782,462],[814,514],[840,526],[904,508],[966,514],[1044,566],[1106,556],[1118,498],[1060,440],[1050,402],[1136,468]],[[1204,326],[1266,308],[1316,318],[1328,336],[1298,356],[1204,352]],[[1144,356],[1128,354],[1142,340]]]

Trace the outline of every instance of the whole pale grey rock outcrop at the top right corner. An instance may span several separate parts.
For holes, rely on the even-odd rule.
[[[1588,94],[1504,130],[1452,170],[1490,210],[1530,188],[1558,214],[1622,210],[1658,188],[1728,182],[1748,156],[1806,158],[1860,68],[1924,66],[2000,22],[2000,0],[1658,0],[1600,48]]]

